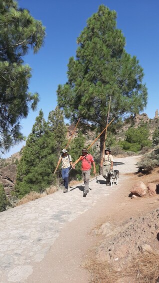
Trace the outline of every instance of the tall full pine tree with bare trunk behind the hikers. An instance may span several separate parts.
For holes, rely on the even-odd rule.
[[[77,38],[76,59],[68,63],[68,81],[57,89],[58,106],[71,121],[105,128],[109,99],[109,121],[117,121],[125,113],[136,114],[147,102],[142,84],[143,70],[135,56],[124,50],[125,39],[116,29],[116,12],[104,5],[87,21]],[[102,155],[105,133],[100,136]]]

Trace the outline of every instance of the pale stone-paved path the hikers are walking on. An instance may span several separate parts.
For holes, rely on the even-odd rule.
[[[110,190],[102,176],[89,182],[91,189],[82,197],[82,183],[0,213],[0,282],[25,282],[32,273],[31,262],[41,261],[58,237],[63,225],[71,222],[103,196],[120,185],[122,173],[135,172],[137,157],[117,158],[119,184]],[[118,163],[119,162],[119,163]],[[121,163],[121,164],[120,164]]]

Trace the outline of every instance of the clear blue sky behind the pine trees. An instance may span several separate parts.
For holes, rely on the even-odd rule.
[[[40,102],[35,112],[21,120],[21,132],[28,136],[40,109],[47,120],[48,113],[57,105],[58,84],[67,81],[67,64],[75,56],[76,38],[86,26],[86,20],[96,13],[99,5],[117,13],[117,28],[126,39],[125,50],[135,55],[144,70],[143,82],[148,89],[148,103],[144,112],[154,118],[159,110],[159,1],[158,0],[18,0],[20,8],[30,11],[46,27],[44,46],[36,55],[30,51],[24,62],[32,68],[29,91],[38,92]],[[3,158],[20,150],[21,143],[10,149]]]

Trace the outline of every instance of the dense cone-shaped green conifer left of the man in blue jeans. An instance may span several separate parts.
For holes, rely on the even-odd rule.
[[[44,191],[53,182],[56,161],[55,135],[40,110],[17,166],[15,194],[22,197],[30,191]]]

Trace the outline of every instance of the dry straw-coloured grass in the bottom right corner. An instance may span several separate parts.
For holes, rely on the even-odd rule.
[[[107,261],[99,262],[90,259],[83,266],[90,272],[89,283],[157,283],[159,282],[159,255],[155,252],[138,254],[122,270],[115,268]]]

